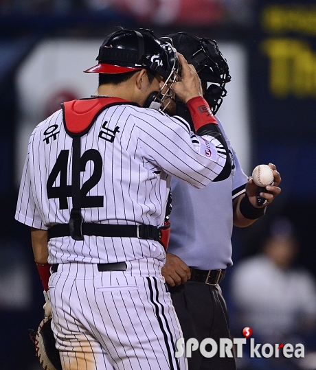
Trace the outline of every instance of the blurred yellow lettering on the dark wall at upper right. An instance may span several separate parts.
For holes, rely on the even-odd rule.
[[[260,49],[269,59],[271,94],[316,98],[316,52],[308,41],[316,36],[316,5],[269,5],[262,10],[261,25],[270,35]]]

